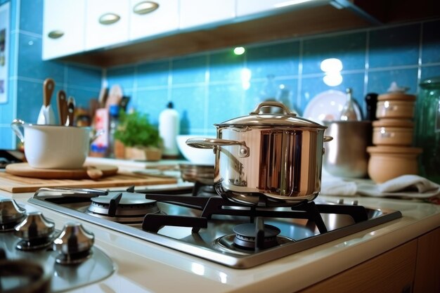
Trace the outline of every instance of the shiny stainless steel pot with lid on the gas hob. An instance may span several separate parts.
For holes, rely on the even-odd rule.
[[[264,114],[278,107],[284,114]],[[296,117],[282,103],[264,102],[250,115],[215,124],[217,138],[190,138],[194,148],[214,148],[214,185],[222,197],[242,204],[290,206],[321,190],[327,128]]]

